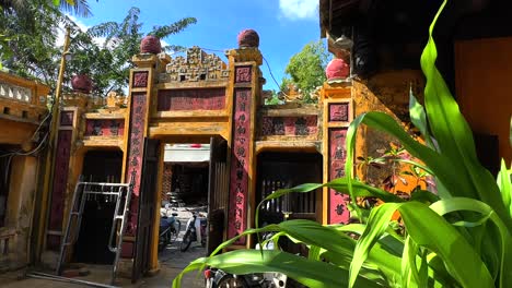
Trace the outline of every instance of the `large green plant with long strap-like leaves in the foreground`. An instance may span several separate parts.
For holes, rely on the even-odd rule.
[[[352,203],[361,196],[375,196],[385,203],[372,208],[362,224],[322,226],[289,220],[241,236],[275,231],[307,245],[307,257],[255,250],[216,255],[236,240],[231,239],[212,256],[191,262],[183,273],[210,265],[232,274],[281,272],[309,287],[512,287],[512,169],[502,163],[496,181],[479,164],[472,131],[434,65],[432,31],[445,4],[446,0],[430,26],[421,57],[427,77],[424,107],[414,96],[410,99],[411,121],[427,144],[411,137],[386,113],[360,115],[347,133],[345,178],[279,190],[265,200],[328,187],[349,194]],[[361,124],[395,136],[424,164],[439,194],[418,191],[406,202],[353,179],[356,134]],[[397,211],[404,233],[397,233],[391,221]],[[358,208],[356,214],[360,215]],[[357,240],[349,235],[357,235]],[[173,287],[179,287],[182,276]]]

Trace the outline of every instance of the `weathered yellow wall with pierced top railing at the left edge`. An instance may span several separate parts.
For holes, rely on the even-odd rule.
[[[0,72],[0,143],[16,145],[23,152],[35,148],[33,133],[48,112],[49,87],[20,76]],[[20,92],[20,93],[19,93]],[[0,228],[0,241],[8,247],[9,268],[26,265],[34,249],[28,243],[36,197],[38,159],[36,156],[14,156],[11,163],[7,225]],[[0,262],[5,261],[1,260]]]

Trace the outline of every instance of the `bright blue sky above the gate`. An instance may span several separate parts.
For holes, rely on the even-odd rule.
[[[78,19],[84,26],[120,22],[131,7],[140,8],[144,32],[153,25],[194,16],[197,24],[165,39],[186,47],[236,48],[238,32],[253,28],[259,34],[259,49],[279,84],[289,59],[305,44],[319,39],[318,0],[90,0],[89,4],[93,16]],[[265,63],[261,71],[267,79],[265,88],[277,89]]]

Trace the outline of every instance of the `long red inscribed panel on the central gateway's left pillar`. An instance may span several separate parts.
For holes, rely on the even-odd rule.
[[[142,176],[142,158],[144,149],[144,128],[146,128],[146,94],[132,94],[130,134],[127,163],[127,181],[133,180],[133,194],[130,204],[130,217],[128,219],[127,233],[135,236],[137,230],[137,217],[139,209],[140,182]]]

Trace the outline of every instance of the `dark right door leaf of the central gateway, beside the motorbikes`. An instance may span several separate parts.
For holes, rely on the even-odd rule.
[[[208,254],[222,243],[224,235],[229,194],[226,155],[228,142],[220,137],[211,137],[208,177]]]

